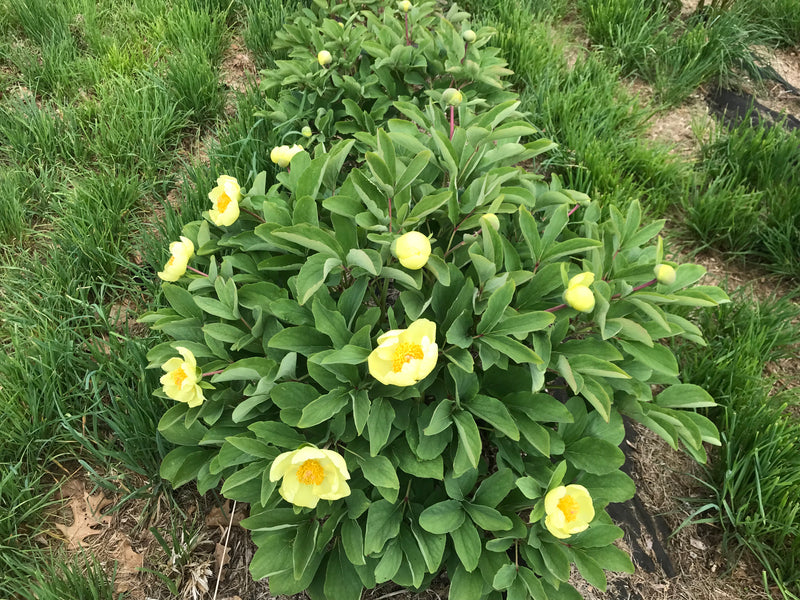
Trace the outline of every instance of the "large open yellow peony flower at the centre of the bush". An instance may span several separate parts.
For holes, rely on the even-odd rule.
[[[436,323],[417,319],[408,329],[392,329],[378,338],[367,358],[369,373],[384,385],[414,385],[436,366]]]

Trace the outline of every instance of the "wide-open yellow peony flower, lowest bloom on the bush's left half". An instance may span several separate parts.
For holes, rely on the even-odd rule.
[[[340,454],[305,446],[284,452],[272,463],[269,480],[283,483],[281,497],[295,506],[314,508],[322,500],[338,500],[350,495],[347,464]]]

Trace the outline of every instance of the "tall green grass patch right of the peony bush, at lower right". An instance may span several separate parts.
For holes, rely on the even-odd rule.
[[[707,389],[721,408],[709,415],[723,445],[704,471],[706,495],[696,498],[699,522],[723,531],[732,562],[750,550],[769,578],[795,598],[800,588],[800,423],[786,404],[800,394],[771,395],[768,362],[796,356],[800,306],[788,298],[754,301],[747,288],[733,302],[698,314],[705,348],[682,351],[686,381]],[[794,590],[792,592],[791,590]]]

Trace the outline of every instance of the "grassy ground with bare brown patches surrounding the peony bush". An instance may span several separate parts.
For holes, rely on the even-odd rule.
[[[302,122],[286,114],[310,110],[305,95],[281,96],[303,81],[292,36],[302,37],[308,5],[0,0],[0,597],[272,597],[247,570],[254,548],[237,523],[248,508],[231,486],[202,484],[200,494],[193,477],[162,478],[175,444],[159,422],[174,402],[154,394],[162,372],[148,365],[161,362],[148,353],[170,330],[139,319],[175,301],[156,273],[170,241],[210,208],[219,175],[243,189],[285,183],[272,149],[303,141],[306,123],[333,131],[334,109],[345,129],[375,135],[383,113],[338,97]],[[700,599],[797,598],[800,133],[790,118],[755,118],[757,107],[733,120],[708,114],[721,89],[800,116],[800,5],[461,8],[472,29],[494,30],[482,50],[487,77],[502,79],[502,93],[517,94],[520,114],[557,144],[526,168],[588,195],[604,217],[632,219],[641,206],[644,225],[665,219],[666,256],[707,266],[731,297],[676,313],[705,343],[698,334],[668,344],[681,381],[716,400],[697,413],[722,445],[706,446],[709,460],[697,466],[639,432],[629,455],[647,512],[674,512],[665,527],[679,531],[656,540],[682,572],[673,585],[695,585]],[[326,147],[334,155],[336,139]],[[391,223],[391,201],[389,211]],[[279,270],[274,277],[286,283]],[[373,304],[385,308],[385,291]],[[669,474],[673,465],[689,476]],[[189,483],[173,489],[176,478]],[[624,544],[635,550],[630,532]],[[663,563],[635,562],[633,578],[609,574],[609,590],[657,597],[671,581]],[[440,577],[432,591],[401,597],[433,598],[447,586]],[[392,584],[378,592],[402,593]]]

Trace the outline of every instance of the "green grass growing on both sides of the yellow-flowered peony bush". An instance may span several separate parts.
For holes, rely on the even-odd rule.
[[[644,141],[656,108],[620,84],[637,73],[661,102],[677,103],[700,82],[733,79],[751,65],[745,41],[798,39],[787,2],[747,0],[716,20],[680,21],[658,2],[585,0],[579,19],[602,48],[574,68],[560,25],[566,0],[467,8],[476,28],[497,28],[493,43],[515,71],[523,109],[559,142],[549,172],[603,204],[640,198],[651,215],[680,208],[700,243],[796,278],[796,137],[749,126],[720,132],[692,167]],[[33,541],[47,532],[55,461],[81,461],[96,484],[124,486],[123,500],[169,495],[158,477],[169,448],[156,432],[166,405],[151,395],[158,373],[144,369],[157,337],[119,314],[161,302],[154,273],[164,240],[207,209],[205,190],[219,173],[245,186],[273,173],[274,134],[255,116],[263,98],[255,85],[228,95],[222,58],[241,35],[257,63],[271,66],[282,58],[275,32],[303,5],[0,0],[0,597],[21,589],[26,598],[111,597],[113,576],[94,559],[65,560]],[[742,17],[756,9],[758,18]],[[208,164],[183,164],[183,148],[204,137],[216,140]],[[166,196],[179,181],[175,208]],[[796,317],[785,300],[737,298],[701,313],[710,345],[682,353],[687,381],[725,406],[715,418],[728,443],[706,477],[704,503],[715,508],[702,517],[725,528],[732,551],[750,548],[794,589],[798,519],[784,482],[798,483],[797,424],[761,376],[765,361],[797,341]],[[173,550],[176,536],[162,536]]]

